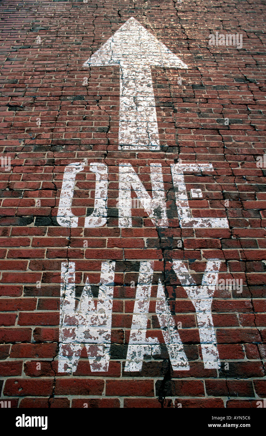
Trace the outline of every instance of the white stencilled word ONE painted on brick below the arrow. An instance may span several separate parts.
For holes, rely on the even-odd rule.
[[[75,188],[76,174],[84,170],[85,162],[76,162],[65,167],[58,205],[57,221],[63,227],[78,227],[78,216],[74,215],[71,207]],[[108,167],[106,164],[92,162],[89,169],[95,173],[95,200],[92,214],[85,217],[84,227],[102,227],[107,223],[108,197]],[[213,172],[212,164],[177,163],[171,165],[171,174],[176,198],[177,214],[180,227],[183,228],[228,228],[227,218],[194,218],[188,203],[188,194],[184,182],[184,172],[200,173]],[[152,197],[140,181],[131,164],[119,164],[119,227],[132,227],[130,198],[131,188],[135,191],[153,224],[157,227],[168,227],[166,198],[161,164],[150,164],[150,179]],[[195,191],[192,191],[192,197]],[[200,189],[198,198],[202,197]]]

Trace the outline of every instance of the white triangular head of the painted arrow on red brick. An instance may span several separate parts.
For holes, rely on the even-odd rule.
[[[158,65],[166,68],[188,68],[133,17],[84,63],[84,66],[89,65]]]

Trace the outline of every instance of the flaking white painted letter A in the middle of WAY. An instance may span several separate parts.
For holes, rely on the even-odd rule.
[[[136,288],[136,300],[130,331],[130,340],[126,355],[125,371],[141,371],[144,356],[160,353],[157,338],[147,337],[150,293],[153,277],[153,262],[140,262],[139,281]],[[162,328],[164,341],[174,370],[189,369],[188,359],[171,316],[164,289],[159,281],[156,313]]]

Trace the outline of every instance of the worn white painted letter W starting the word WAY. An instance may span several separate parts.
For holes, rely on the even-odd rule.
[[[85,347],[91,371],[108,371],[115,262],[102,262],[98,299],[87,278],[75,298],[75,262],[61,263],[58,372],[74,372]]]

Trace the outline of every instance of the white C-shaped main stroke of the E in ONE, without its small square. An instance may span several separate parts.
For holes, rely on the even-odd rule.
[[[180,227],[193,228],[228,228],[227,218],[193,218],[188,204],[188,194],[184,182],[184,171],[198,172],[213,171],[212,164],[178,163],[171,165],[174,184],[177,213]]]

